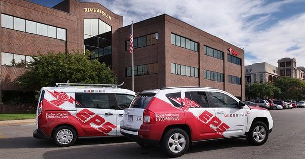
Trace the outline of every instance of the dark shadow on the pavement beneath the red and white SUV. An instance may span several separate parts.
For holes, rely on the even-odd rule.
[[[187,154],[219,150],[231,147],[250,146],[245,139],[227,139],[223,141],[203,142],[189,148]],[[158,147],[141,147],[136,143],[74,148],[69,150],[53,150],[43,154],[44,158],[166,158],[162,149]]]

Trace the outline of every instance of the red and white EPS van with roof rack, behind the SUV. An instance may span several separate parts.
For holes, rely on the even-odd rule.
[[[41,88],[33,137],[53,139],[58,146],[67,147],[78,138],[121,135],[123,109],[135,92],[116,88],[120,85],[77,85]]]

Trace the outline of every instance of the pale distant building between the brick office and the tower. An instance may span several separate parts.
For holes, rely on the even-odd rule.
[[[245,66],[245,83],[274,82],[279,77],[278,67],[266,62]]]

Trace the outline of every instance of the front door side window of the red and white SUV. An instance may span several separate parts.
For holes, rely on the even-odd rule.
[[[227,107],[227,108],[238,107],[238,102],[226,94],[219,92],[210,92],[210,94],[211,94],[211,100],[214,103],[214,107]]]

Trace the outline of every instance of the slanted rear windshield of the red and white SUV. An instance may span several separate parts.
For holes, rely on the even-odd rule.
[[[131,102],[130,108],[146,109],[148,103],[155,96],[155,93],[151,94],[139,94]]]

